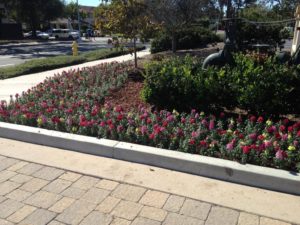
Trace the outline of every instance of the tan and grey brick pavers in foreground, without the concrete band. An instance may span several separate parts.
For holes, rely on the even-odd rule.
[[[196,188],[196,187],[195,187]],[[0,155],[0,225],[288,225]]]

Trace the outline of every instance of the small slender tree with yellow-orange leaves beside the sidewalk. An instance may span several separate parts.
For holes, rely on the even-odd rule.
[[[101,8],[96,11],[97,27],[133,39],[134,64],[137,68],[137,38],[153,28],[146,13],[146,5],[139,0],[113,0],[111,4],[99,7]]]

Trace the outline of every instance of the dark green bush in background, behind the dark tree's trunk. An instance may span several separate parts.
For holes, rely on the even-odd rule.
[[[177,49],[192,49],[219,41],[218,36],[211,30],[201,27],[182,29],[177,32]],[[170,50],[172,37],[165,31],[158,34],[151,42],[151,53]]]

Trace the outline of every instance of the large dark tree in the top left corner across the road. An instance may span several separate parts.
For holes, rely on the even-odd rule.
[[[14,19],[27,23],[36,37],[36,30],[41,23],[47,23],[63,14],[64,4],[61,0],[2,0],[11,11]]]

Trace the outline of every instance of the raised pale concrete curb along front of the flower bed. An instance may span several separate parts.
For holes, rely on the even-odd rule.
[[[0,137],[300,195],[300,174],[284,170],[3,122]]]

